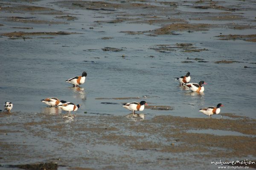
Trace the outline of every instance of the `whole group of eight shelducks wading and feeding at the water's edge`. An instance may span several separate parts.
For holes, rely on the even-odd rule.
[[[66,82],[68,82],[68,83],[72,84],[74,87],[76,87],[76,86],[79,86],[80,84],[84,84],[86,76],[87,76],[87,73],[83,72],[81,76],[76,76],[76,77],[70,78],[70,79],[66,80]],[[198,93],[204,92],[203,84],[206,84],[204,81],[200,81],[199,84],[189,83],[190,72],[187,72],[185,76],[181,76],[181,77],[175,78],[175,79],[180,83],[181,86],[185,86],[186,88],[190,89],[192,92],[198,92]],[[60,101],[58,98],[55,98],[55,97],[45,98],[45,99],[41,100],[41,102],[43,102],[51,107],[57,106],[69,113],[71,111],[76,111],[80,107],[79,104],[75,105],[71,102],[67,102],[67,101],[63,101],[63,100]],[[126,103],[122,107],[124,107],[128,110],[131,110],[134,115],[135,111],[143,111],[145,108],[144,105],[148,105],[148,104],[145,101],[141,101],[140,103],[134,101],[134,102]],[[13,104],[11,102],[7,101],[7,102],[5,102],[4,106],[5,106],[5,109],[8,112],[10,112],[13,107]],[[220,111],[221,111],[220,107],[223,107],[223,105],[218,104],[217,107],[202,108],[199,110],[199,112],[203,112],[205,115],[208,115],[209,117],[211,117],[214,114],[220,113]]]

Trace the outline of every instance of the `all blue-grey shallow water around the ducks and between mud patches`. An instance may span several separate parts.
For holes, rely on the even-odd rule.
[[[47,2],[47,3],[46,3]],[[247,116],[256,118],[255,115],[255,99],[256,87],[256,48],[255,42],[247,42],[244,40],[218,40],[220,33],[222,35],[229,34],[255,34],[255,29],[235,30],[227,29],[226,27],[212,28],[209,31],[199,32],[177,32],[178,35],[158,35],[147,36],[128,35],[121,33],[121,31],[137,31],[143,32],[160,28],[158,25],[149,24],[135,24],[135,23],[103,23],[98,24],[96,20],[112,20],[115,19],[114,14],[104,14],[103,12],[82,10],[82,9],[68,9],[61,5],[52,4],[49,1],[38,1],[35,3],[23,4],[46,6],[62,10],[70,13],[72,16],[78,17],[78,20],[67,21],[54,18],[55,15],[45,14],[30,14],[29,12],[8,13],[2,12],[0,23],[0,33],[5,32],[77,32],[81,34],[59,35],[59,36],[35,36],[32,39],[17,39],[12,40],[9,37],[0,37],[0,104],[6,101],[11,101],[14,104],[12,112],[20,112],[20,119],[17,116],[3,118],[3,122],[19,123],[33,118],[35,121],[44,120],[42,116],[38,118],[37,114],[45,114],[45,116],[52,115],[53,120],[58,120],[58,116],[64,111],[55,107],[47,107],[40,100],[48,97],[57,97],[60,100],[70,101],[75,104],[80,104],[81,108],[76,113],[77,117],[72,120],[66,120],[65,130],[73,128],[79,121],[79,125],[86,123],[87,117],[97,126],[97,120],[93,116],[106,116],[108,119],[110,115],[122,116],[120,119],[127,119],[127,121],[140,121],[154,118],[156,115],[175,115],[190,118],[206,118],[207,116],[198,112],[202,107],[210,107],[218,103],[224,104],[221,107],[221,113],[234,113],[235,115]],[[152,2],[153,3],[153,2]],[[229,2],[230,3],[230,2]],[[253,1],[244,4],[244,8],[255,5]],[[249,4],[249,5],[248,5]],[[254,6],[255,7],[255,6]],[[192,9],[186,6],[179,6],[177,10],[189,12],[223,12],[221,10],[200,10]],[[122,11],[121,11],[122,12]],[[241,11],[239,11],[241,12]],[[237,21],[237,23],[254,24],[255,13],[251,10],[246,10],[244,14],[248,20]],[[186,17],[189,14],[183,14]],[[35,23],[17,23],[4,20],[5,17],[20,16],[20,17],[36,17],[40,20],[53,20],[68,22],[69,24],[35,24]],[[98,18],[103,16],[104,18]],[[225,21],[212,20],[194,20],[193,23],[218,23],[223,24]],[[232,23],[232,21],[226,21]],[[33,29],[13,29],[12,27],[33,27]],[[93,27],[93,29],[90,29]],[[39,37],[54,37],[50,39]],[[113,37],[112,39],[102,40],[102,37]],[[176,43],[192,43],[197,49],[208,49],[201,52],[183,52],[183,49],[174,48],[173,51],[157,52],[152,48],[157,45],[169,45],[175,47]],[[105,47],[114,47],[123,49],[121,52],[105,52],[102,49]],[[122,57],[124,55],[124,57]],[[154,57],[151,57],[154,56]],[[181,63],[188,61],[186,58],[203,58],[207,63]],[[217,64],[215,61],[234,60],[241,63]],[[190,60],[189,60],[190,61]],[[244,68],[249,66],[250,68]],[[81,75],[82,72],[87,72],[87,78],[84,84],[80,87],[72,87],[65,80]],[[186,75],[186,72],[191,73],[191,83],[198,83],[199,81],[207,82],[204,85],[205,91],[202,94],[190,92],[183,87],[180,87],[175,77]],[[144,98],[143,96],[149,96]],[[97,98],[124,98],[124,97],[140,97],[140,99],[132,100],[115,100],[115,99],[97,99]],[[122,103],[131,101],[145,100],[149,105],[161,105],[173,107],[173,110],[151,110],[145,109],[144,117],[131,117],[128,114],[131,112],[122,108]],[[102,102],[113,102],[117,104],[101,104]],[[3,108],[3,105],[2,105]],[[0,108],[1,109],[1,108]],[[85,114],[86,113],[86,114]],[[56,118],[57,117],[57,118]],[[213,115],[212,118],[221,118],[221,115]],[[71,124],[70,127],[68,124]],[[73,124],[73,125],[72,125]],[[114,124],[113,124],[114,125]],[[55,136],[54,132],[50,132],[46,127],[34,127],[34,132],[43,130],[45,134],[49,132],[49,138]],[[119,127],[121,128],[121,126]],[[12,130],[15,130],[15,128]],[[125,130],[123,130],[125,131]],[[29,132],[29,130],[28,130]],[[194,131],[191,131],[194,132]],[[228,132],[228,131],[227,131]],[[26,133],[26,131],[25,131]],[[132,131],[124,132],[131,133]],[[200,131],[200,133],[212,133],[207,131]],[[222,131],[216,130],[216,135],[226,135]],[[81,135],[81,134],[76,134]],[[127,135],[127,134],[125,134]],[[143,135],[136,133],[135,135]],[[77,139],[74,135],[68,143],[72,143],[73,139]],[[72,160],[77,157],[72,152],[78,152],[81,155],[81,150],[95,151],[93,156],[95,158],[101,154],[107,154],[104,157],[102,164],[107,164],[107,157],[124,156],[122,153],[127,151],[125,147],[109,144],[88,144],[84,146],[82,142],[86,135],[79,136],[77,147],[70,151],[60,150],[57,152],[55,148],[59,147],[58,142],[63,142],[65,139],[58,137],[54,139],[37,138],[34,135],[20,136],[20,133],[12,133],[5,138],[6,141],[15,141],[21,138],[26,141],[27,145],[38,143],[37,147],[47,153],[56,151],[55,156],[63,153],[72,155]],[[54,140],[56,139],[55,142]],[[148,141],[162,141],[162,138],[156,136],[148,137]],[[49,144],[49,145],[47,145]],[[47,150],[47,151],[46,151]],[[33,150],[32,150],[33,151]],[[32,152],[31,151],[31,152]],[[104,151],[104,152],[103,152]],[[39,151],[35,149],[36,154]],[[145,154],[145,152],[147,154]],[[151,161],[157,159],[159,156],[172,157],[173,160],[183,157],[186,153],[179,153],[172,155],[172,153],[154,153],[152,157],[151,151],[136,151],[129,150],[129,161],[134,161],[135,164],[125,165],[126,169],[136,168],[138,161],[134,158],[136,156],[143,157],[148,160],[147,167],[151,167]],[[90,155],[88,154],[88,155]],[[111,155],[112,154],[112,155]],[[187,158],[187,157],[186,157]],[[68,159],[68,158],[66,158]],[[135,160],[134,160],[135,159]],[[193,159],[193,158],[191,158]],[[30,159],[30,162],[41,161],[45,158]],[[12,162],[12,164],[20,164],[24,160]],[[190,160],[191,161],[191,160]],[[76,166],[79,162],[84,166],[83,160],[76,160],[69,165]],[[96,165],[92,160],[94,167],[102,168],[102,164]],[[180,160],[174,165],[180,165]],[[155,162],[154,162],[155,163]],[[112,165],[118,166],[119,162],[115,161]],[[144,164],[144,163],[143,163]],[[122,165],[124,166],[124,165]],[[122,167],[121,166],[121,167]],[[202,166],[202,165],[201,165]],[[93,167],[93,166],[91,166]],[[152,165],[149,169],[154,169],[157,165]],[[184,166],[181,166],[184,168]],[[122,167],[123,168],[123,167]],[[162,167],[166,169],[166,167]],[[198,167],[194,167],[197,169]],[[212,168],[209,166],[209,168]],[[65,169],[65,167],[63,167]],[[111,168],[110,168],[111,169]],[[145,169],[141,168],[141,169]],[[213,169],[213,168],[212,168]]]

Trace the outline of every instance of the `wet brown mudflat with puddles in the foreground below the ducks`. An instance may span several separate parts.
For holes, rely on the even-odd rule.
[[[74,119],[67,119],[63,115],[44,113],[0,113],[5,120],[0,124],[0,161],[5,165],[56,162],[59,169],[108,169],[108,164],[110,169],[132,169],[133,166],[183,169],[201,167],[202,163],[214,169],[210,161],[220,158],[245,157],[256,161],[252,160],[256,156],[253,149],[256,147],[256,120],[228,119],[227,116],[223,114],[219,119],[169,115],[143,120],[131,115],[76,115]],[[204,130],[208,133],[202,133]],[[218,130],[225,133],[214,134]],[[15,140],[17,137],[19,140]],[[48,146],[54,147],[49,149]],[[182,158],[176,158],[181,155]],[[182,165],[184,160],[186,164]]]

